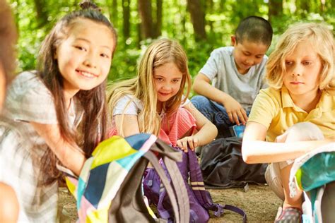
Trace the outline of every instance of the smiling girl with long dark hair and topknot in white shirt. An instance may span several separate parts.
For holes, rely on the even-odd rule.
[[[57,165],[79,174],[105,139],[105,80],[117,37],[89,1],[64,16],[40,49],[36,72],[11,86],[0,119],[0,181],[18,197],[18,222],[59,222]]]

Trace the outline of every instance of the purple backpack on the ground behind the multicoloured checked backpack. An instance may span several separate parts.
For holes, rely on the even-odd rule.
[[[182,162],[177,162],[177,167],[180,169],[180,173],[184,179],[184,182],[181,183],[186,186],[187,193],[189,195],[189,222],[208,222],[208,210],[213,211],[216,217],[220,217],[223,214],[224,209],[237,212],[242,215],[243,222],[247,222],[247,215],[240,208],[232,205],[220,205],[213,203],[210,193],[208,193],[204,187],[204,180],[201,175],[201,170],[195,152],[192,150],[183,152],[179,148],[175,149],[182,152]],[[171,181],[170,174],[167,173],[164,163],[160,162],[160,164],[165,170],[167,179]],[[155,169],[146,169],[143,179],[143,189],[144,195],[146,195],[148,200],[157,207],[160,217],[167,219],[168,222],[173,222],[174,215],[170,200],[165,188],[163,188],[160,183],[160,177]]]

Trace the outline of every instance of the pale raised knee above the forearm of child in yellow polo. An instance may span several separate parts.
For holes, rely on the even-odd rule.
[[[310,122],[300,122],[290,126],[285,133],[276,138],[276,141],[283,143],[322,139],[324,139],[324,135],[319,127]]]

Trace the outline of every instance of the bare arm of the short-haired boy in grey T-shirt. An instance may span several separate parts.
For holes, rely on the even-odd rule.
[[[247,112],[241,104],[227,93],[212,86],[211,80],[203,73],[198,73],[194,79],[193,90],[199,95],[204,95],[214,102],[223,104],[231,122],[235,122],[237,125],[240,125],[240,121],[242,124],[247,122]]]

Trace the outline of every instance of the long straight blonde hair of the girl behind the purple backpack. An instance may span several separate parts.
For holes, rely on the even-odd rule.
[[[156,40],[146,49],[141,58],[136,78],[114,83],[108,87],[107,100],[110,113],[112,113],[113,108],[121,97],[124,95],[134,95],[133,100],[137,98],[143,103],[143,110],[138,115],[140,132],[158,135],[160,116],[156,109],[157,92],[153,82],[153,70],[168,63],[174,63],[180,70],[182,73],[182,83],[177,94],[163,103],[163,110],[168,116],[178,109],[180,104],[187,99],[191,88],[191,76],[189,75],[189,68],[187,66],[187,56],[178,42],[162,39]],[[187,92],[184,94],[185,85],[187,85]],[[184,99],[182,99],[182,95],[185,96]],[[131,100],[127,106],[130,102]],[[120,129],[122,129],[122,126]],[[119,134],[122,135],[122,131]]]

